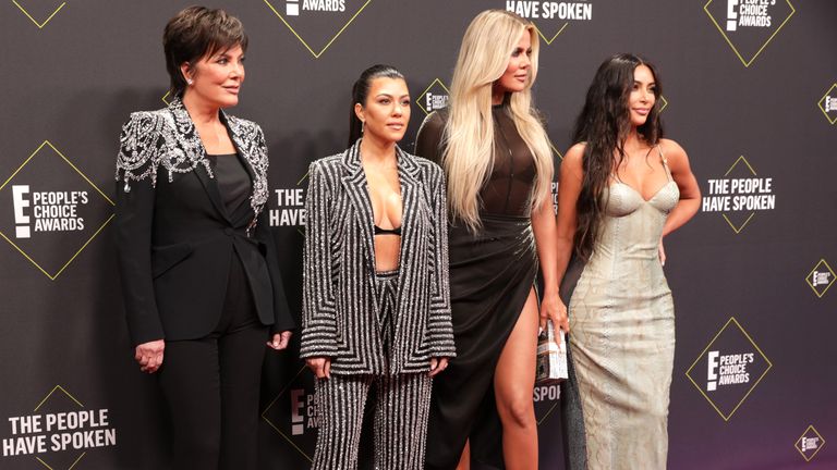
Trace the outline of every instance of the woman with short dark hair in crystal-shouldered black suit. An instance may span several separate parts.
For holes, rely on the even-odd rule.
[[[119,269],[135,358],[159,371],[174,468],[254,469],[265,342],[293,320],[269,233],[262,128],[239,102],[247,36],[222,10],[166,26],[168,108],[135,112],[117,160]],[[165,359],[163,359],[165,351]]]

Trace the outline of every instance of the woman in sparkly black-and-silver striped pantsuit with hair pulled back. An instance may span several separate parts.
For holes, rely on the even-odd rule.
[[[311,164],[300,356],[316,380],[314,469],[353,469],[364,407],[375,468],[424,465],[433,376],[456,355],[441,169],[401,150],[404,76],[388,65],[352,88],[350,147]]]

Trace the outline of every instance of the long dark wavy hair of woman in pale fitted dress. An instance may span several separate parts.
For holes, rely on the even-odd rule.
[[[647,66],[654,74],[656,99],[645,123],[636,132],[650,145],[656,145],[663,138],[659,74],[653,64],[633,54],[619,53],[599,65],[587,89],[584,108],[575,120],[572,141],[586,143],[582,158],[584,178],[575,205],[578,228],[574,237],[575,253],[584,260],[590,259],[599,236],[606,203],[604,190],[614,169],[624,159],[624,140],[631,131],[628,98],[633,88],[633,71],[640,65]]]

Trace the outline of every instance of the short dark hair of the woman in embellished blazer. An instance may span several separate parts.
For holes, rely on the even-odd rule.
[[[247,35],[235,16],[223,10],[206,7],[187,7],[175,14],[162,33],[162,49],[166,52],[166,70],[171,81],[171,94],[183,97],[186,79],[180,71],[183,62],[194,67],[195,63],[218,51],[241,46],[247,51]]]

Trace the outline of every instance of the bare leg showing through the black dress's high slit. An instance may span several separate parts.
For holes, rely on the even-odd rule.
[[[534,289],[500,354],[494,376],[508,470],[537,469],[537,422],[532,394],[537,354],[537,300]]]

